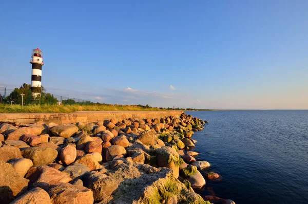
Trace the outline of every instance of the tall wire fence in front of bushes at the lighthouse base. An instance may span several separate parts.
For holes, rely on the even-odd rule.
[[[53,95],[43,92],[42,94],[32,93],[30,89],[8,89],[5,87],[0,87],[0,104],[19,104],[19,105],[29,105],[29,104],[90,104],[91,101],[72,98],[61,95]]]

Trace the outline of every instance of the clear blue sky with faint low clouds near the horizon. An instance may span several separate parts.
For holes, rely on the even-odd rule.
[[[94,102],[308,109],[308,1],[2,1],[0,86]]]

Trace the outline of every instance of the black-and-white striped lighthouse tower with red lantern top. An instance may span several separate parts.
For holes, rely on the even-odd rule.
[[[42,87],[42,66],[43,62],[43,52],[42,50],[36,48],[32,49],[30,63],[32,64],[32,76],[31,76],[31,91],[34,97],[41,94]]]

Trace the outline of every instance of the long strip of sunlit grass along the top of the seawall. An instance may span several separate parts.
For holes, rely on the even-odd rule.
[[[162,111],[166,108],[140,107],[137,105],[4,105],[0,104],[0,113],[72,113],[76,111]]]

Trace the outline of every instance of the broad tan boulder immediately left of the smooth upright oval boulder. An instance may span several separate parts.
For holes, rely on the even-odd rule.
[[[49,147],[28,147],[22,151],[24,158],[31,159],[33,166],[47,165],[57,157],[58,152]]]

